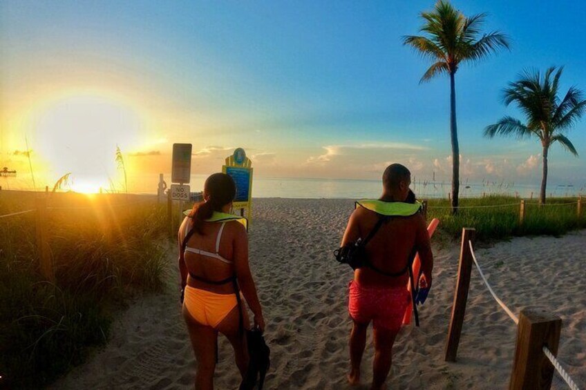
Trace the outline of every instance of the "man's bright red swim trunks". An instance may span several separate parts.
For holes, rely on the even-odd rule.
[[[348,311],[352,320],[366,324],[372,320],[374,328],[399,331],[407,305],[411,303],[406,286],[362,286],[352,280]]]

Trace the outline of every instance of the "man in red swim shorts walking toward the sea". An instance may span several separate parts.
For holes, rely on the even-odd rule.
[[[388,166],[383,174],[383,194],[379,204],[388,206],[388,202],[405,202],[410,184],[411,175],[405,166]],[[364,240],[380,218],[381,215],[375,211],[357,207],[350,216],[341,246],[359,238]],[[422,261],[423,274],[418,281],[419,286],[429,288],[433,255],[426,222],[421,213],[390,217],[388,222],[381,224],[366,245],[366,255],[372,266],[356,269],[354,280],[350,282],[348,311],[354,321],[350,333],[350,384],[360,382],[360,363],[366,347],[366,330],[372,321],[375,359],[371,389],[384,388],[390,371],[393,343],[401,329],[405,309],[411,302],[407,291],[409,276],[406,264],[414,248],[419,252]]]

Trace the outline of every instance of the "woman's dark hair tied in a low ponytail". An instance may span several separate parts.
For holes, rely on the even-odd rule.
[[[236,196],[236,184],[234,179],[225,173],[214,173],[205,180],[203,193],[207,200],[193,205],[189,217],[193,220],[193,228],[203,234],[203,224],[209,220],[214,211],[222,211],[222,208],[234,200]]]

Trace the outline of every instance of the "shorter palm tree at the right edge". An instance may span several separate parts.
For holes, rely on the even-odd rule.
[[[552,66],[542,77],[538,70],[524,70],[517,81],[509,83],[509,88],[504,89],[502,101],[507,106],[514,101],[527,118],[527,124],[507,116],[484,128],[484,136],[490,138],[495,135],[516,135],[519,139],[533,135],[539,138],[543,159],[539,198],[542,204],[545,203],[549,146],[559,142],[569,153],[577,156],[576,148],[563,133],[576,124],[586,111],[583,92],[576,87],[570,87],[563,99],[558,97],[562,71],[563,67],[556,71],[556,67]]]

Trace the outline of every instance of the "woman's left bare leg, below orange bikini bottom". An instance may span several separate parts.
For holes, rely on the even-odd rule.
[[[218,332],[211,326],[202,325],[194,320],[185,304],[183,305],[183,318],[185,318],[191,346],[196,355],[196,390],[214,389]]]

